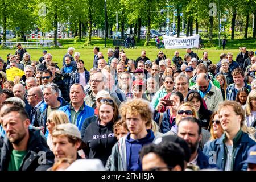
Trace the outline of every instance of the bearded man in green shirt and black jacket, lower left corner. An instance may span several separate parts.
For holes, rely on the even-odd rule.
[[[46,171],[51,167],[54,155],[40,130],[29,129],[26,110],[19,106],[2,107],[1,113],[6,137],[1,148],[0,170]]]

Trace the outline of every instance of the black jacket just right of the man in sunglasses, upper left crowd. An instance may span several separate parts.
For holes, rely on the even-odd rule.
[[[62,75],[55,73],[55,78],[52,80],[52,82],[58,86],[61,91],[61,96],[64,98],[64,100],[69,102],[69,86],[61,79],[61,76]]]

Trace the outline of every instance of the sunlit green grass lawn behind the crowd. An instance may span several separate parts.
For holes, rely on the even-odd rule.
[[[80,59],[85,61],[85,68],[90,69],[93,66],[93,47],[98,46],[100,47],[100,51],[103,53],[105,59],[108,61],[106,54],[108,51],[108,48],[114,48],[112,40],[108,40],[106,44],[106,48],[104,47],[104,39],[99,38],[93,38],[93,46],[84,46],[84,42],[74,43],[74,39],[60,39],[58,40],[59,43],[62,44],[61,47],[63,48],[48,48],[47,52],[51,53],[53,56],[53,61],[55,63],[59,63],[59,66],[62,66],[62,60],[65,53],[67,53],[68,47],[74,47],[75,52],[80,52]],[[218,39],[214,39],[215,45],[218,45]],[[150,58],[151,61],[156,59],[156,55],[159,52],[159,49],[155,48],[154,40],[151,41],[151,46],[144,47],[142,46],[143,42],[141,44],[138,44],[137,49],[125,49],[125,53],[129,59],[137,59],[141,55],[142,50],[146,50],[146,56]],[[228,44],[226,46],[226,51],[222,51],[222,49],[218,48],[218,46],[213,47],[207,47],[204,49],[204,51],[208,51],[209,53],[209,59],[213,61],[213,63],[217,63],[219,60],[220,53],[225,52],[232,52],[234,54],[234,59],[236,59],[237,53],[239,53],[238,48],[245,46],[247,47],[247,50],[253,50],[256,49],[256,40],[228,40]],[[174,55],[174,51],[176,49],[161,49],[164,54],[172,59]],[[27,52],[31,55],[31,60],[39,60],[39,58],[42,56],[43,49],[27,49]],[[179,49],[180,56],[184,58],[185,55],[185,49]],[[197,53],[199,55],[199,58],[203,56],[202,50],[196,50],[193,49],[193,52]],[[6,60],[7,53],[15,53],[15,49],[0,49],[0,57]]]

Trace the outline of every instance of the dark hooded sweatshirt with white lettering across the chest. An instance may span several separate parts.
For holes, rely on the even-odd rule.
[[[85,152],[86,156],[89,153],[89,159],[100,159],[105,166],[112,147],[117,142],[113,132],[113,122],[109,122],[106,126],[100,125],[100,121],[90,123],[83,140],[90,148],[89,152]]]

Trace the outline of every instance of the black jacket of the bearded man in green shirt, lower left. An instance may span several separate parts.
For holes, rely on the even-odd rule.
[[[46,140],[40,135],[40,130],[29,130],[27,154],[19,168],[19,171],[46,171],[54,163],[54,155],[47,146]],[[9,167],[13,146],[5,137],[1,148],[0,171],[7,171]]]

